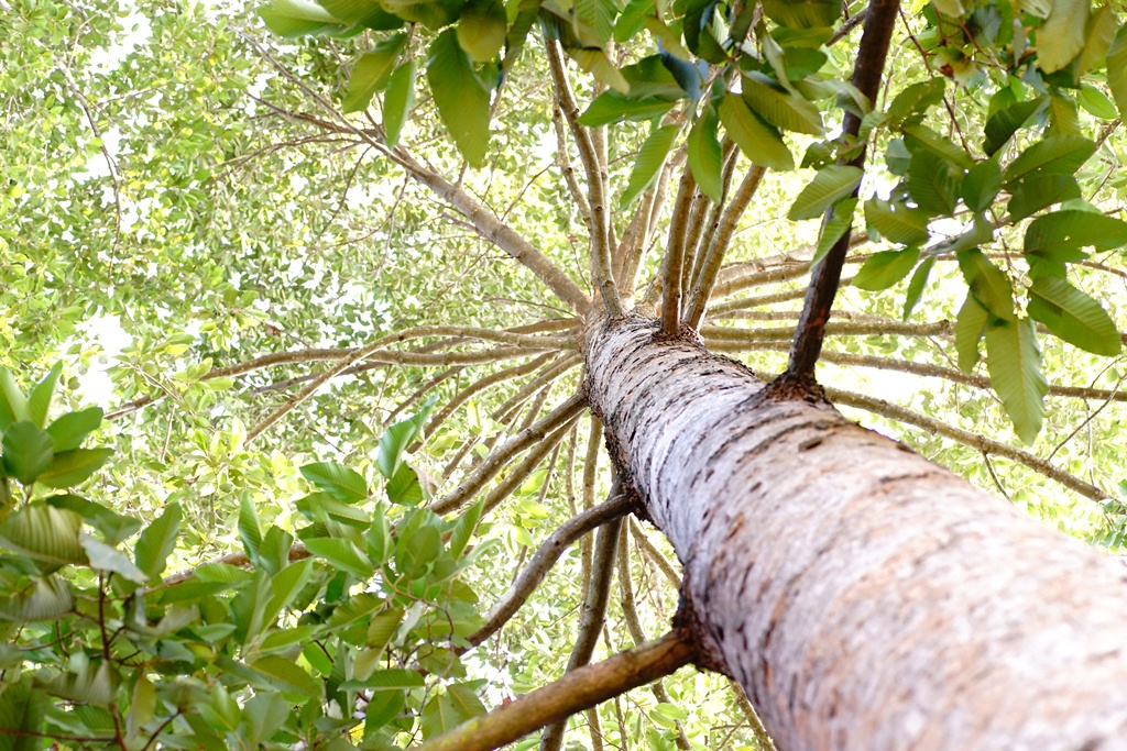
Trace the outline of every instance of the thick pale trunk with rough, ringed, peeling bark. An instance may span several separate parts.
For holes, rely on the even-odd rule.
[[[1127,748],[1122,567],[631,318],[589,401],[783,751]]]

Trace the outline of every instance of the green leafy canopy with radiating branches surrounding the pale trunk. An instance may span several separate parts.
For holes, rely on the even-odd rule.
[[[764,748],[647,641],[628,312],[1124,547],[1119,2],[0,15],[0,749]]]

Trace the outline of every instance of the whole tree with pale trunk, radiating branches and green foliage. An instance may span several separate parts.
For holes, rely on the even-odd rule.
[[[1116,429],[1099,428],[1097,438],[1094,415],[1059,411],[1046,420],[1044,408],[1046,394],[1101,402],[1095,412],[1121,401],[1120,376],[1106,359],[1121,347],[1118,315],[1099,302],[1111,307],[1111,280],[1122,271],[1108,253],[1127,243],[1127,223],[1113,216],[1122,181],[1115,175],[1119,122],[1107,96],[1119,111],[1127,106],[1127,32],[1116,9],[944,1],[921,5],[909,17],[884,1],[845,9],[771,1],[511,6],[272,0],[259,14],[274,33],[341,39],[278,48],[245,37],[281,74],[256,101],[284,119],[284,143],[281,131],[269,132],[273,143],[254,143],[258,132],[242,143],[246,123],[218,125],[212,115],[184,120],[190,123],[179,131],[186,143],[157,152],[167,157],[163,169],[150,151],[128,160],[132,172],[121,169],[125,160],[103,137],[105,110],[99,114],[76,77],[86,36],[112,35],[112,21],[77,7],[19,9],[20,32],[34,43],[20,50],[8,43],[6,59],[50,72],[37,89],[46,96],[9,92],[21,124],[12,133],[55,153],[46,167],[28,158],[10,172],[7,208],[19,216],[21,234],[10,231],[5,240],[17,249],[21,271],[14,269],[12,288],[23,294],[6,304],[24,309],[10,316],[23,327],[12,336],[10,364],[45,360],[74,333],[72,324],[42,331],[38,316],[28,314],[32,304],[62,311],[64,321],[99,307],[116,313],[134,332],[115,373],[118,393],[133,401],[107,417],[141,415],[134,432],[119,435],[118,455],[144,452],[154,435],[167,436],[167,446],[174,427],[183,426],[197,456],[168,459],[168,467],[160,449],[154,467],[110,471],[123,488],[143,485],[145,472],[179,477],[174,486],[181,485],[174,492],[179,503],[147,513],[148,526],[127,543],[142,525],[121,506],[109,508],[113,491],[105,483],[100,502],[45,490],[65,491],[109,459],[106,449],[81,447],[101,412],[48,415],[62,367],[33,386],[19,365],[24,390],[0,372],[10,510],[0,537],[12,551],[3,562],[3,617],[17,645],[0,694],[6,736],[122,749],[298,741],[345,748],[346,734],[362,727],[353,740],[363,748],[410,741],[416,732],[434,748],[472,748],[487,737],[494,748],[535,728],[506,718],[558,723],[695,661],[735,678],[787,749],[1111,743],[1125,722],[1116,703],[1124,674],[1116,625],[1127,607],[1115,564],[1062,542],[903,445],[850,424],[829,404],[914,424],[924,431],[915,435],[924,448],[937,445],[934,435],[968,447],[980,455],[979,477],[1003,493],[991,457],[1039,473],[1099,502],[1095,526],[1085,524],[1084,512],[1072,512],[1068,524],[1121,547],[1122,507],[1094,476],[1113,472]],[[199,36],[198,20],[190,14],[165,19],[159,33],[190,39],[188,48],[198,44],[208,65],[230,60],[234,70],[251,69],[230,35]],[[861,21],[860,42],[851,42]],[[544,54],[532,55],[540,46]],[[326,91],[341,81],[339,61],[352,52],[358,57],[338,108]],[[190,117],[195,100],[237,101],[206,66],[180,77],[181,86],[162,96],[185,99],[160,107],[177,124]],[[131,91],[145,90],[128,83]],[[165,82],[150,86],[166,90]],[[109,96],[113,79],[99,90]],[[57,104],[64,101],[73,106]],[[69,118],[66,127],[53,128],[61,117]],[[60,131],[86,126],[94,140],[62,135],[60,144]],[[431,142],[436,132],[449,134],[456,151]],[[198,155],[211,134],[228,151],[222,167]],[[494,184],[495,175],[521,175],[543,136],[556,149],[559,181],[540,187],[535,176],[523,185]],[[408,150],[409,140],[419,146]],[[307,158],[287,155],[275,168],[278,176],[289,170],[287,186],[225,182],[241,160],[311,144],[361,153],[350,168],[329,160],[328,177],[293,170]],[[797,145],[806,146],[801,167],[813,168],[813,178],[787,176]],[[91,222],[91,211],[61,220],[51,205],[60,196],[47,176],[60,163],[78,164],[83,150],[106,164],[109,222]],[[1093,162],[1099,167],[1089,167]],[[179,176],[179,182],[145,196],[151,188],[142,178],[154,173]],[[378,267],[376,286],[400,287],[400,298],[442,299],[441,306],[384,309],[381,325],[373,306],[357,304],[360,293],[343,281],[328,285],[340,302],[274,288],[286,278],[273,248],[286,236],[274,208],[284,207],[298,233],[291,236],[310,248],[291,257],[290,268],[299,270],[290,276],[300,276],[302,261],[329,252],[326,234],[355,236],[364,215],[352,204],[363,199],[347,197],[362,175],[373,185],[389,176],[407,180],[378,229],[394,270],[384,279]],[[316,199],[295,204],[314,177],[345,184],[335,208]],[[401,204],[408,182],[437,207]],[[861,186],[877,190],[861,193]],[[219,208],[229,190],[242,191],[234,193],[239,206]],[[757,216],[782,214],[781,196],[788,220],[798,224],[761,234],[761,242],[786,238],[784,252],[763,254],[747,243],[738,256],[737,232]],[[854,233],[862,196],[867,231]],[[90,195],[79,200],[97,206]],[[162,215],[141,216],[152,213],[136,211],[144,200]],[[763,214],[753,211],[757,202]],[[41,221],[60,236],[81,238],[87,252],[68,254],[57,241],[45,242],[42,256],[29,251],[39,217],[50,217]],[[819,217],[817,229],[801,224]],[[433,241],[427,224],[440,218],[477,239]],[[61,222],[77,231],[56,230]],[[162,240],[149,227],[177,239]],[[792,243],[792,233],[808,244]],[[241,252],[222,251],[232,240]],[[458,272],[452,259],[470,257],[479,242],[504,251],[521,274],[494,263],[474,267],[470,278],[424,272],[405,279],[412,268]],[[183,252],[166,250],[177,243]],[[567,243],[586,244],[588,252],[569,259]],[[864,243],[887,249],[866,253],[859,250]],[[414,256],[405,253],[412,247]],[[147,269],[148,248],[168,266]],[[83,284],[59,284],[71,278],[76,261]],[[863,265],[843,280],[845,263],[854,262]],[[231,278],[255,279],[263,304],[256,307],[255,292],[228,280],[224,263]],[[330,274],[364,279],[365,263],[340,261],[329,265]],[[326,265],[318,268],[323,274]],[[808,272],[808,285],[760,290],[805,283]],[[152,286],[147,274],[162,283],[154,299],[140,301],[140,290]],[[909,274],[902,296],[897,285]],[[132,294],[123,302],[91,284],[107,278]],[[320,284],[316,275],[309,280],[314,290]],[[871,293],[854,298],[863,311],[840,310],[842,284]],[[28,303],[37,287],[64,293]],[[514,321],[497,304],[497,289],[556,312]],[[756,294],[735,298],[745,290]],[[221,315],[201,310],[193,292]],[[801,311],[778,307],[804,295]],[[952,305],[953,324],[942,318]],[[301,313],[310,306],[339,315],[344,325],[318,327]],[[898,309],[903,321],[893,318]],[[203,321],[169,336],[145,320],[169,310]],[[787,325],[731,323],[739,320]],[[827,334],[882,339],[824,350]],[[958,368],[925,357],[925,341]],[[416,346],[403,349],[403,342]],[[983,342],[988,378],[977,372]],[[192,346],[197,350],[184,358]],[[764,355],[788,346],[786,367]],[[751,367],[707,349],[751,352]],[[250,352],[257,356],[241,357]],[[949,419],[922,414],[826,378],[819,385],[818,361],[914,373],[979,393],[990,386],[999,404],[967,402]],[[310,363],[328,365],[307,369]],[[172,377],[170,365],[178,370]],[[444,369],[434,376],[407,369],[418,367]],[[282,373],[267,378],[267,368]],[[1049,386],[1046,369],[1077,381],[1112,373],[1115,386]],[[326,394],[341,376],[354,381]],[[248,399],[220,401],[236,382],[246,384]],[[349,417],[356,404],[380,409],[382,395],[371,396],[375,383],[399,402],[382,408],[381,430]],[[272,399],[282,390],[292,394]],[[441,409],[432,393],[444,396]],[[488,418],[477,409],[485,403],[494,405]],[[584,423],[580,449],[587,406],[598,419]],[[163,427],[149,417],[162,408]],[[1044,457],[987,437],[1000,410],[1021,440],[1032,444],[1044,429],[1058,436],[1056,449]],[[252,427],[245,430],[229,414]],[[406,414],[412,417],[401,419]],[[216,415],[220,426],[211,421]],[[302,417],[328,429],[318,439],[323,446],[301,437]],[[962,419],[983,427],[952,423]],[[1077,472],[1082,454],[1070,444],[1084,429],[1093,431],[1091,442],[1106,440],[1103,456],[1110,456],[1101,459],[1092,449],[1088,480]],[[614,483],[596,504],[597,490],[609,484],[596,470],[604,437]],[[329,456],[301,466],[298,480],[286,456],[247,448],[268,439]],[[948,447],[946,456],[966,464],[961,450]],[[354,463],[345,457],[364,453],[374,464],[345,466]],[[1055,455],[1067,462],[1055,464]],[[446,462],[441,471],[440,458]],[[437,488],[429,475],[438,476]],[[1020,472],[1011,476],[1026,481]],[[370,498],[375,479],[384,500]],[[197,489],[210,508],[189,502]],[[256,509],[255,495],[273,503],[267,513]],[[1067,503],[1032,506],[1042,516],[1070,511]],[[270,519],[276,510],[282,513]],[[645,642],[651,626],[637,613],[631,566],[641,561],[631,560],[623,528],[642,560],[669,567],[639,527],[621,521],[628,510],[654,521],[684,565],[676,628],[579,670],[609,634],[615,567],[619,641]],[[185,527],[181,561],[236,537],[243,553],[161,582],[181,513],[194,522]],[[228,513],[237,517],[237,531],[224,535]],[[527,522],[568,515],[530,557],[534,525]],[[514,552],[522,562],[529,557],[504,593],[472,569],[512,567],[496,549],[471,543],[488,539],[482,525],[491,519],[515,520]],[[584,542],[573,562],[584,585],[569,674],[544,694],[454,728],[485,709],[480,686],[463,680],[462,655],[509,623],[561,548],[595,527],[595,540]],[[496,597],[483,615],[474,588]],[[654,735],[654,745],[707,745],[675,722],[665,688],[658,685],[655,695],[655,721],[668,732]],[[360,716],[349,719],[354,708]],[[615,740],[625,743],[630,713],[624,718],[614,705],[614,717]],[[598,712],[586,718],[591,742],[600,745]],[[753,712],[748,722],[757,722]],[[562,733],[552,725],[541,746],[559,748]],[[762,733],[756,737],[766,742]]]

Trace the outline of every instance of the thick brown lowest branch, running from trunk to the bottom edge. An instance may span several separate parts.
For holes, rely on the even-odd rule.
[[[694,658],[687,637],[671,632],[656,642],[566,673],[558,681],[416,746],[415,751],[499,749],[540,727],[672,674]]]

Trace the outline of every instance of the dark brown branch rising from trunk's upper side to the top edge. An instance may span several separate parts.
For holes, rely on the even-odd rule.
[[[861,46],[853,68],[853,86],[869,99],[872,106],[876,106],[877,102],[880,77],[888,56],[888,44],[896,25],[899,5],[899,0],[872,0],[866,14],[864,33],[861,36]],[[861,118],[852,111],[846,111],[842,124],[843,135],[857,136],[860,128]],[[864,169],[866,153],[867,149],[862,145],[850,164]],[[859,190],[860,186],[853,190],[853,195],[859,195]],[[802,318],[798,323],[795,341],[790,348],[787,373],[782,376],[786,381],[799,383],[814,381],[814,365],[818,361],[826,322],[829,321],[834,297],[837,294],[842,267],[850,248],[850,229],[845,230],[845,233],[834,243],[826,257],[814,267],[806,292]]]

